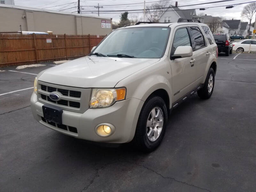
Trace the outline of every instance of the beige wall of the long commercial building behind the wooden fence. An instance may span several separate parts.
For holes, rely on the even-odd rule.
[[[0,6],[0,31],[52,31],[53,34],[107,35],[111,28],[101,28],[101,20],[106,18],[86,17],[78,14],[60,14],[35,10],[24,10]]]

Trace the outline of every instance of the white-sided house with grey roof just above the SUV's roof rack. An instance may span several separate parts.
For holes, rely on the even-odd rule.
[[[192,19],[192,17],[196,15],[195,9],[182,10],[178,7],[171,6],[167,8],[159,17],[159,22],[169,23],[169,22],[177,22],[179,18],[188,18]]]

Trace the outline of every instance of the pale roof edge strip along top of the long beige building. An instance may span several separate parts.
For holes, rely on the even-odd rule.
[[[62,12],[62,11],[54,11],[49,9],[38,9],[33,7],[23,7],[18,5],[7,5],[7,4],[0,4],[0,7],[6,7],[6,8],[14,8],[14,9],[21,9],[21,10],[29,10],[29,11],[41,11],[41,12],[50,12],[50,13],[59,13],[59,14],[65,14],[65,15],[75,15],[75,16],[81,16],[81,17],[92,17],[92,18],[99,18],[99,19],[108,19],[111,20],[108,17],[98,17],[98,16],[92,16],[92,15],[86,15],[86,14],[78,14],[78,13],[70,13],[70,12]]]

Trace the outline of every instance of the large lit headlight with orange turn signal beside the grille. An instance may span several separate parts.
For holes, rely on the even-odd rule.
[[[92,89],[91,108],[109,107],[116,101],[124,100],[126,89]]]

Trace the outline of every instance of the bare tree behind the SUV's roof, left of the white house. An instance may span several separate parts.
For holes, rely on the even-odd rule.
[[[168,2],[155,3],[146,6],[146,17],[150,22],[158,22],[160,15],[169,7]],[[150,9],[150,10],[147,10]]]

